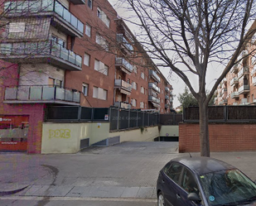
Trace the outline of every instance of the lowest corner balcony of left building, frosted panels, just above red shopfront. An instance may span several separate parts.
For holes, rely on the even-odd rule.
[[[27,85],[5,88],[3,103],[58,103],[80,105],[80,92],[56,85]]]

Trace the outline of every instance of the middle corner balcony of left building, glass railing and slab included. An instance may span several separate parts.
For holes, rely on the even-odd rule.
[[[82,69],[82,57],[54,41],[27,41],[0,44],[0,59],[13,63],[45,63],[73,71]]]

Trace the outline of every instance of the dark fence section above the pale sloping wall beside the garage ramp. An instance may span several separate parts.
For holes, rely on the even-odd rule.
[[[110,108],[110,131],[157,126],[159,124],[159,117],[159,113]]]

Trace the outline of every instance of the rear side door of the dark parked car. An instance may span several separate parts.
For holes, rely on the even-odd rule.
[[[172,163],[168,169],[164,170],[164,175],[162,175],[162,192],[165,197],[166,205],[177,205],[176,193],[179,187],[178,183],[181,179],[182,169],[182,165]]]

